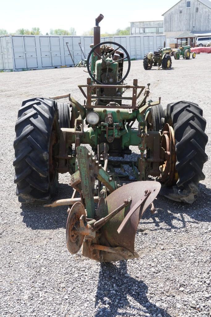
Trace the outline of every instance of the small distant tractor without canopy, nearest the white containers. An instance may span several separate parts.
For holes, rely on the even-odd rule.
[[[158,69],[161,67],[163,69],[170,69],[172,64],[170,55],[170,47],[159,46],[156,52],[149,52],[144,55],[144,69],[151,69],[152,66],[157,66]]]

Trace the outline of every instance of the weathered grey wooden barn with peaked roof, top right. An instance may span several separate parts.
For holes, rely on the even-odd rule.
[[[163,13],[163,17],[166,38],[173,39],[185,30],[195,34],[211,32],[209,0],[181,0]]]

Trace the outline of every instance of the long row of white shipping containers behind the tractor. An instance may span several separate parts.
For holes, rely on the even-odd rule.
[[[142,59],[150,51],[163,46],[165,35],[109,36],[101,42],[116,42],[129,53],[131,59]],[[93,36],[0,36],[0,70],[21,71],[72,67],[87,58]]]

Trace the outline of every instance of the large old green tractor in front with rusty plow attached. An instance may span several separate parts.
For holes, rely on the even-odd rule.
[[[150,84],[124,83],[130,56],[118,43],[100,43],[102,19],[96,18],[87,58],[90,77],[78,85],[84,104],[71,94],[23,101],[13,165],[19,202],[68,206],[68,250],[76,254],[82,246],[84,256],[111,262],[139,256],[137,226],[148,206],[155,212],[158,192],[195,201],[208,137],[197,104],[177,101],[163,111],[160,97],[149,98]],[[132,94],[125,96],[129,89]],[[55,101],[64,97],[69,103]],[[131,146],[139,153],[132,158]],[[58,173],[67,172],[72,197],[51,202]]]

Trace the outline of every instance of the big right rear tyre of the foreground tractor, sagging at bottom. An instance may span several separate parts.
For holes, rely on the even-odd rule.
[[[206,120],[195,103],[179,101],[168,104],[167,116],[174,128],[176,150],[176,186],[164,187],[161,193],[173,200],[192,204],[198,194],[198,183],[205,178],[202,168],[208,156]]]

